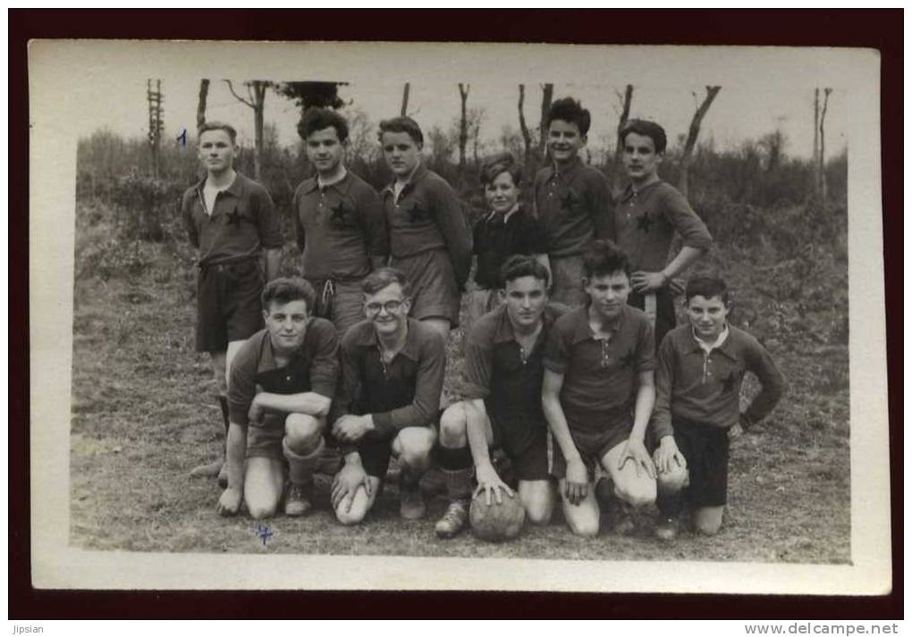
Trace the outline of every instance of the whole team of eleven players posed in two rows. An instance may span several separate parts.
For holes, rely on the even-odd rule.
[[[221,513],[243,501],[254,518],[283,502],[286,515],[305,514],[331,438],[344,457],[332,505],[346,524],[373,506],[395,456],[407,519],[424,516],[419,479],[432,459],[440,467],[451,501],[440,537],[465,528],[473,476],[479,497],[519,498],[534,523],[560,498],[580,535],[599,528],[598,478],[622,513],[658,502],[662,539],[677,536],[685,500],[697,529],[720,528],[729,441],[772,410],[782,375],[727,323],[719,279],[689,281],[689,324],[673,329],[672,280],[711,238],[658,178],[664,130],[624,128],[629,184],[615,200],[578,157],[589,112],[560,99],[546,123],[551,165],[535,175],[534,211],[520,203],[522,170],[495,157],[482,167],[490,211],[470,236],[456,194],[422,164],[414,120],[380,123],[395,180],[378,195],[345,167],[346,120],[311,109],[299,132],[316,177],[295,191],[304,278],[292,279],[277,278],[283,240],[268,193],[233,170],[234,129],[200,129],[206,177],[181,213],[200,251],[197,349],[212,355],[227,445],[224,462],[194,472],[226,482]],[[675,231],[683,247],[669,260]],[[441,409],[473,254],[462,399]],[[741,412],[746,371],[762,392]],[[494,447],[510,458],[515,493]]]

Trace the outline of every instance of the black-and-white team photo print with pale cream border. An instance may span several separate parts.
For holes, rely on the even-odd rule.
[[[886,407],[854,402],[882,337],[850,343],[883,331],[849,285],[850,255],[880,259],[850,196],[879,189],[858,168],[876,58],[163,44],[31,49],[33,157],[65,130],[47,170],[72,210],[32,236],[69,242],[48,267],[72,311],[68,400],[33,442],[65,509],[33,526],[77,570],[270,588],[250,573],[306,556],[343,588],[485,588],[466,573],[497,560],[496,589],[681,590],[644,583],[671,563],[834,594],[865,566],[888,587],[888,499],[853,509],[886,474],[851,461],[886,453]],[[64,121],[41,100],[67,69],[91,81]],[[220,579],[234,559],[248,575]]]

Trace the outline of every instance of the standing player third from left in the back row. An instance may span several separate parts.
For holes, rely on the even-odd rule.
[[[383,158],[394,181],[383,190],[391,265],[411,283],[411,316],[444,340],[459,323],[472,267],[472,239],[456,193],[421,162],[424,136],[412,118],[380,122]]]

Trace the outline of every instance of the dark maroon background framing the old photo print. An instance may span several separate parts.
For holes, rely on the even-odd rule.
[[[8,10],[9,617],[67,618],[775,618],[903,616],[903,12],[891,10]],[[418,26],[420,25],[420,30]],[[884,271],[894,590],[884,597],[476,592],[82,592],[31,587],[28,446],[29,38],[388,40],[858,46],[881,54]],[[570,78],[568,78],[570,79]],[[61,88],[63,92],[65,89]],[[885,134],[886,131],[889,131]],[[48,320],[44,317],[43,320]],[[25,379],[25,380],[24,380]]]

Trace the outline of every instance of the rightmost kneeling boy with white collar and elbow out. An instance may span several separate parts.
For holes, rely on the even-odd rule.
[[[785,386],[763,346],[728,324],[725,282],[694,277],[685,298],[689,324],[669,332],[658,348],[651,423],[659,441],[654,455],[661,515],[656,535],[666,540],[678,535],[685,499],[700,533],[719,531],[728,493],[729,442],[767,416]],[[757,376],[762,391],[741,412],[745,372]]]

